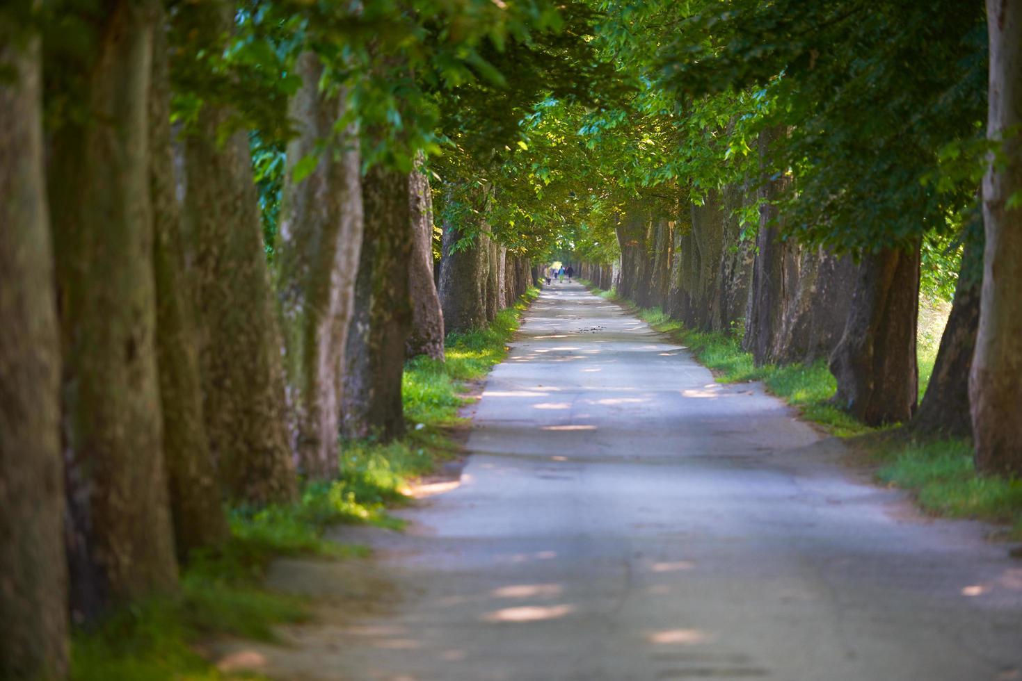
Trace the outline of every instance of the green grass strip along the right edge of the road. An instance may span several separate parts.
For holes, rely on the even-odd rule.
[[[871,428],[830,403],[837,384],[826,361],[755,367],[752,355],[742,350],[737,335],[689,331],[659,308],[636,308],[613,290],[593,289],[593,292],[631,307],[653,329],[687,346],[722,383],[760,381],[771,393],[797,407],[804,419],[837,437],[855,438],[886,431],[889,437],[870,444],[852,440],[869,450],[869,460],[877,467],[879,482],[910,491],[922,508],[937,516],[1009,524],[1012,529],[1007,536],[1022,540],[1022,480],[977,476],[970,442],[911,441],[891,427]],[[943,314],[946,319],[946,310]],[[933,373],[943,328],[942,322],[934,321],[933,315],[930,312],[918,339],[920,398]]]

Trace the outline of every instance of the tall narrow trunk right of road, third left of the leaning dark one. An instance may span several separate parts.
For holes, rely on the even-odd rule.
[[[772,129],[759,135],[760,166],[769,172],[772,146],[783,132]],[[781,333],[786,301],[793,294],[790,288],[797,272],[796,254],[792,245],[781,240],[778,208],[774,201],[786,191],[790,179],[782,176],[765,181],[759,188],[763,201],[759,208],[759,231],[756,234],[756,256],[752,270],[752,292],[749,313],[745,320],[743,346],[752,353],[755,364],[773,361],[773,349]]]

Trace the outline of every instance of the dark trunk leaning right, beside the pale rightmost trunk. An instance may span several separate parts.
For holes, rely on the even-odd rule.
[[[971,437],[969,414],[969,370],[976,348],[979,327],[979,297],[982,289],[982,242],[967,239],[959,267],[951,313],[933,364],[933,374],[919,409],[909,423],[914,435],[930,437]]]

